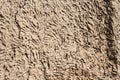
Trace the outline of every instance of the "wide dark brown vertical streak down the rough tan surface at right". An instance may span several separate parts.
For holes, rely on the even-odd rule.
[[[112,65],[112,75],[117,75],[117,50],[115,45],[115,35],[113,30],[113,19],[114,16],[114,8],[112,7],[112,1],[111,0],[104,0],[105,1],[105,7],[106,7],[106,16],[105,16],[105,24],[106,24],[106,39],[107,39],[107,56],[108,59],[113,62]]]

